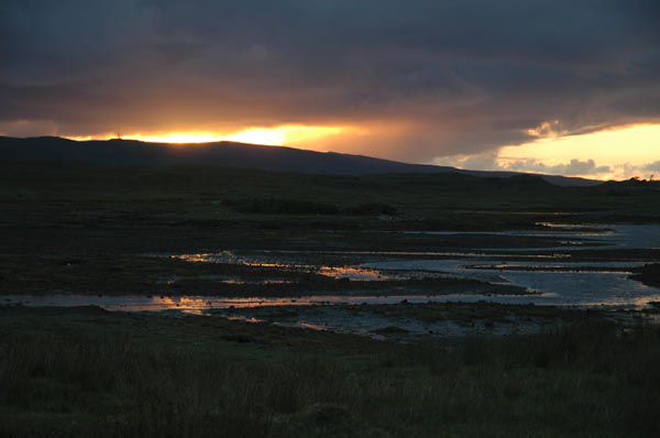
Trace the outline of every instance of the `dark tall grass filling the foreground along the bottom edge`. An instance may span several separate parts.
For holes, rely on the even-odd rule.
[[[361,359],[0,339],[2,436],[657,436],[660,330],[585,324]]]

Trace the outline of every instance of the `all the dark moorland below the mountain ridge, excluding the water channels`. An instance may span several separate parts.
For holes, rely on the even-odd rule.
[[[0,292],[525,296],[524,287],[487,278],[328,272],[385,256],[505,253],[515,261],[558,247],[570,261],[640,263],[630,275],[650,287],[660,250],[600,248],[588,238],[566,247],[543,232],[548,223],[652,226],[659,211],[660,183],[639,179],[575,187],[525,175],[6,160]],[[229,255],[189,258],[204,254]],[[485,302],[346,305],[354,318],[468,328],[409,338],[396,325],[358,336],[217,309],[4,305],[0,427],[8,436],[656,436],[660,336],[654,307],[645,309],[613,317]],[[548,324],[503,336],[470,329],[541,319]]]

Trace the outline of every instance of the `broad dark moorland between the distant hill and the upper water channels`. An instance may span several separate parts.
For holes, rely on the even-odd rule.
[[[558,187],[526,178],[454,174],[356,177],[205,165],[155,168],[0,161],[0,239],[4,254],[76,256],[228,248],[557,247],[558,239],[398,231],[540,230],[543,227],[537,222],[546,221],[660,221],[660,197],[640,194],[613,202],[607,190],[617,184]],[[237,205],[257,199],[260,208],[263,200],[284,199],[274,210],[298,212],[239,212],[222,199]],[[328,206],[349,210],[318,213]],[[389,216],[394,209],[396,216]]]

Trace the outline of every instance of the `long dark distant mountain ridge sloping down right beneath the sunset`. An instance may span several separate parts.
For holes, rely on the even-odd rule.
[[[29,139],[0,136],[0,160],[62,161],[132,166],[208,164],[339,175],[420,172],[451,172],[480,177],[529,175],[517,172],[465,171],[448,166],[400,163],[363,155],[323,153],[294,147],[234,142],[168,144],[119,139],[79,142],[57,136]],[[560,186],[595,186],[602,184],[600,180],[576,177],[538,176]]]

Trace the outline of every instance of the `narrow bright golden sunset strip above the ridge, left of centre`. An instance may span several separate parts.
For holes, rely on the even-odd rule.
[[[252,127],[230,133],[218,133],[210,131],[177,131],[157,133],[130,133],[122,134],[124,140],[140,140],[154,143],[211,143],[219,141],[231,141],[239,143],[264,144],[280,146],[290,143],[300,143],[321,136],[345,132],[345,127],[310,127],[302,124],[284,124],[275,128]],[[105,134],[100,136],[68,136],[72,140],[108,140],[117,138],[117,134]]]

